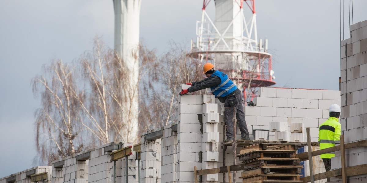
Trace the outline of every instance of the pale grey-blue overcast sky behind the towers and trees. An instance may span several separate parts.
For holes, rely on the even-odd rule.
[[[269,40],[273,54],[275,87],[338,90],[339,1],[255,3],[258,37]],[[143,44],[158,53],[170,41],[189,46],[201,6],[202,0],[143,0]],[[213,7],[214,1],[210,15]],[[367,1],[354,0],[353,23],[367,19],[366,7]],[[348,8],[345,1],[345,38]],[[0,0],[0,178],[33,167],[40,99],[33,97],[31,79],[53,58],[70,62],[91,50],[96,35],[113,48],[113,31],[112,0]]]

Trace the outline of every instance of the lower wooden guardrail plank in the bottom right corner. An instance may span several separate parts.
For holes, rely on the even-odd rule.
[[[363,164],[363,165],[356,165],[356,166],[352,166],[352,167],[346,167],[346,176],[355,176],[355,175],[364,175],[367,174],[367,164]],[[331,177],[338,177],[342,175],[342,169],[338,168],[338,169],[334,169],[328,172],[323,172],[323,173],[318,173],[315,174],[315,180],[321,180],[321,179],[326,179],[326,178],[331,178]],[[310,182],[310,176],[307,177],[302,177],[301,180],[304,183]]]

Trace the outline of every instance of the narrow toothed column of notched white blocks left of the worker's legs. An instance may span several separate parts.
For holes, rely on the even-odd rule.
[[[202,138],[202,169],[218,168],[219,161],[219,113],[214,95],[203,95],[203,138]],[[203,175],[202,182],[218,181],[218,173]]]

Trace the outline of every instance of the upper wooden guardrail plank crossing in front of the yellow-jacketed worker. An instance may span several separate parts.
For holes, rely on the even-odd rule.
[[[350,149],[350,148],[354,148],[354,147],[365,147],[365,146],[367,146],[367,140],[362,140],[362,141],[352,142],[352,143],[346,143],[344,148],[345,149]],[[331,153],[331,152],[335,152],[335,151],[339,151],[339,150],[340,150],[340,146],[329,147],[329,148],[326,148],[326,149],[316,150],[316,151],[312,152],[312,156],[318,156],[320,154]],[[299,154],[297,154],[297,157],[301,161],[306,161],[306,160],[308,160],[308,152],[299,153]]]

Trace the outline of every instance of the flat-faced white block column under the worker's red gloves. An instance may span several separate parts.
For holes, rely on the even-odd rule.
[[[189,85],[182,85],[182,89],[187,87]],[[192,182],[195,181],[193,168],[201,169],[203,156],[203,97],[187,94],[179,97],[178,102],[177,181]]]

